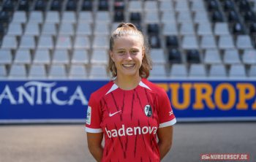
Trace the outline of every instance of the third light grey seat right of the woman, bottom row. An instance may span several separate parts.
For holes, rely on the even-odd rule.
[[[189,77],[206,77],[206,67],[203,64],[192,64],[189,68]]]

